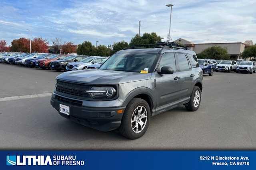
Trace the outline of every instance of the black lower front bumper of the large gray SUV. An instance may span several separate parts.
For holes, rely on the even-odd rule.
[[[100,102],[100,101],[95,101]],[[88,107],[82,105],[82,100],[68,98],[53,93],[51,105],[59,111],[60,104],[70,107],[70,115],[64,113],[59,114],[76,123],[82,124],[92,129],[100,131],[112,131],[121,125],[122,115],[125,106],[121,107]],[[117,113],[117,110],[122,109],[122,113]]]

